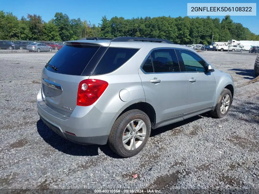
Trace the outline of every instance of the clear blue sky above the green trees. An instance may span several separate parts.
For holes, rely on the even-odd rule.
[[[13,12],[19,19],[27,13],[42,16],[44,21],[49,21],[56,12],[66,13],[69,18],[81,18],[81,20],[91,21],[92,24],[101,22],[101,17],[106,15],[108,19],[114,16],[130,19],[132,17],[157,17],[157,16],[186,16],[187,3],[246,3],[243,0],[231,1],[175,1],[175,0],[130,0],[130,1],[71,1],[71,0],[10,0],[1,1],[0,10]],[[257,3],[258,0],[249,0],[248,3]],[[195,16],[192,16],[195,17]],[[203,16],[206,17],[206,16]],[[217,17],[217,16],[213,16]],[[218,16],[220,19],[223,16]],[[259,13],[257,16],[231,16],[234,22],[239,22],[249,28],[251,32],[259,34]]]

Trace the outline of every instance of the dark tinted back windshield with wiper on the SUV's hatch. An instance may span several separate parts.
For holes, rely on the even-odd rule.
[[[48,62],[50,65],[54,65],[58,70],[55,71],[51,67],[45,67],[55,73],[81,75],[98,48],[100,47],[65,45]]]

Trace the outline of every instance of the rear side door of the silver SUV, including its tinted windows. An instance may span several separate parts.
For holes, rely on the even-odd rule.
[[[187,80],[180,72],[174,49],[152,51],[139,70],[139,76],[146,102],[155,109],[156,122],[185,113]]]

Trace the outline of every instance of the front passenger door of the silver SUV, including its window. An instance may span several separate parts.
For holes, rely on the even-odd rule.
[[[188,83],[186,113],[211,108],[216,94],[213,72],[206,71],[206,62],[195,52],[179,49],[177,53]]]

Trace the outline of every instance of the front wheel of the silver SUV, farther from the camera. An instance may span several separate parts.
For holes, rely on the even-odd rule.
[[[227,115],[230,106],[232,104],[232,94],[229,89],[224,88],[219,95],[218,102],[214,111],[211,111],[211,115],[216,118],[223,118]]]

